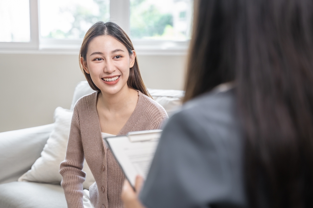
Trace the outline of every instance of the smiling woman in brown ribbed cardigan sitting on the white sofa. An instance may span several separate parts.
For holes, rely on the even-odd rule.
[[[80,48],[80,67],[96,92],[74,106],[61,185],[68,207],[123,207],[124,174],[104,137],[161,129],[168,118],[141,79],[136,52],[127,34],[113,22],[96,22]],[[95,178],[83,190],[84,158]]]

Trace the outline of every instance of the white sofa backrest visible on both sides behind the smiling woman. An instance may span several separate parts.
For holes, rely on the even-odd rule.
[[[182,90],[148,88],[148,91],[152,98],[163,106],[169,116],[182,104],[182,97],[184,96],[184,91]],[[74,91],[71,110],[73,110],[78,99],[93,92],[95,92],[95,90],[90,88],[87,81],[79,82]]]

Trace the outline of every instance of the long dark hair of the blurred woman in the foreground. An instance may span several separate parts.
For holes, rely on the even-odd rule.
[[[251,207],[313,206],[313,1],[195,1],[185,100],[234,81]]]

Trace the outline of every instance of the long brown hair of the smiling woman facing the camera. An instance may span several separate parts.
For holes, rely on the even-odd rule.
[[[94,39],[97,36],[103,36],[103,35],[109,35],[115,38],[117,41],[121,42],[126,48],[129,53],[129,55],[132,55],[134,49],[134,46],[131,42],[131,39],[128,37],[125,31],[121,27],[119,27],[114,22],[96,22],[94,25],[90,27],[90,29],[87,31],[83,43],[80,47],[80,53],[79,53],[79,60],[80,57],[84,58],[84,61],[86,61],[86,54],[88,51],[89,43],[92,39]],[[94,84],[94,82],[91,80],[90,74],[86,73],[83,66],[81,65],[79,61],[80,69],[84,73],[86,80],[88,81],[90,87],[94,90],[100,91],[100,89]],[[142,81],[137,56],[135,57],[135,63],[134,66],[129,69],[129,77],[127,80],[127,85],[130,88],[139,90],[143,94],[151,97],[148,90],[146,89],[145,84]]]

